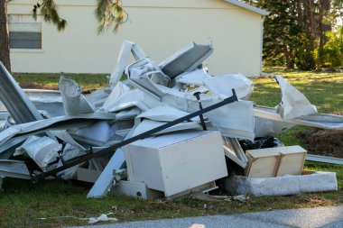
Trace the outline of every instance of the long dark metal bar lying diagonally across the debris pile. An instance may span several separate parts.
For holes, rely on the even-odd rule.
[[[95,159],[95,158],[98,158],[98,157],[103,157],[103,156],[106,156],[110,153],[113,153],[114,151],[116,151],[116,149],[118,148],[121,148],[131,142],[134,142],[134,141],[138,141],[138,140],[142,140],[144,138],[147,138],[147,137],[150,137],[153,135],[153,133],[156,133],[156,132],[160,132],[164,129],[167,129],[175,124],[178,124],[178,123],[182,123],[184,121],[189,121],[191,118],[194,118],[200,114],[205,114],[205,113],[208,113],[214,109],[217,109],[218,107],[221,107],[223,105],[228,105],[228,104],[231,104],[231,103],[234,103],[234,102],[237,102],[238,101],[238,98],[236,96],[236,91],[235,89],[232,89],[232,96],[229,96],[227,97],[226,99],[224,99],[223,101],[215,104],[215,105],[210,105],[209,107],[206,107],[204,109],[200,109],[199,111],[197,112],[194,112],[192,114],[187,114],[179,119],[176,119],[170,123],[165,123],[163,124],[162,126],[159,126],[159,127],[156,127],[156,128],[153,128],[152,130],[150,131],[147,131],[147,132],[143,132],[141,134],[138,134],[138,135],[135,135],[134,137],[131,137],[125,141],[121,141],[121,142],[118,142],[104,150],[99,150],[97,151],[96,153],[93,153],[93,150],[92,148],[90,148],[88,150],[88,153],[85,154],[85,155],[82,155],[82,156],[79,156],[79,157],[75,157],[73,159],[70,159],[70,160],[64,160],[63,161],[63,165],[60,166],[59,168],[56,168],[56,169],[51,169],[49,171],[46,171],[46,172],[42,172],[40,174],[37,174],[37,175],[34,175],[33,172],[35,171],[34,169],[32,169],[32,166],[28,166],[28,169],[30,170],[30,175],[31,175],[31,178],[32,178],[32,181],[33,182],[38,182],[39,180],[41,179],[44,179],[44,178],[47,178],[47,177],[50,177],[52,175],[56,175],[57,173],[59,173],[60,171],[62,170],[65,170],[65,169],[69,169],[71,167],[74,167],[76,165],[79,165],[85,161],[88,161],[88,160],[91,160],[91,159]],[[41,170],[39,170],[41,171]]]

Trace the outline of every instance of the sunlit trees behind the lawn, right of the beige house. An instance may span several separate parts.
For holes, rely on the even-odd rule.
[[[338,51],[343,44],[336,41],[342,31],[338,19],[343,15],[343,0],[243,1],[271,13],[264,21],[266,64],[306,70],[338,67],[343,59],[343,51]]]

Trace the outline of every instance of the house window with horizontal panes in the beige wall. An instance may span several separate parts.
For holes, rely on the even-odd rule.
[[[32,15],[8,16],[11,49],[42,49],[42,20]]]

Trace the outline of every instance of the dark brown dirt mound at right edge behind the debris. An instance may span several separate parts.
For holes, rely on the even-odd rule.
[[[343,131],[312,129],[298,133],[297,137],[311,154],[343,159]]]

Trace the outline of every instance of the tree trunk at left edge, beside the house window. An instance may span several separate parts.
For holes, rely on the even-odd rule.
[[[0,61],[11,71],[6,0],[0,0]]]

